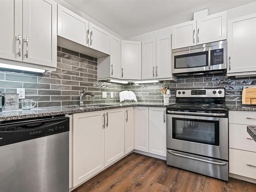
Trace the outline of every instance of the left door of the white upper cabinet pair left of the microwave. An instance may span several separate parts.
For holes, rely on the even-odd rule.
[[[142,79],[156,78],[156,39],[142,42]]]

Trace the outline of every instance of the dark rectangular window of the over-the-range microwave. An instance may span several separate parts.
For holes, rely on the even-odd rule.
[[[208,66],[208,51],[174,56],[174,68],[197,68]]]

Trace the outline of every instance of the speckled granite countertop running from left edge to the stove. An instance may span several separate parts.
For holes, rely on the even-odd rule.
[[[171,104],[171,103],[170,103]],[[99,104],[100,105],[100,104]],[[166,107],[169,104],[163,103],[108,103],[106,106],[96,106],[95,108],[77,108],[74,106],[49,106],[46,108],[34,108],[32,110],[16,110],[16,111],[3,111],[0,112],[0,121],[26,119],[35,117],[45,117],[52,115],[74,114],[101,110],[110,110],[116,108],[125,108],[129,106],[154,106],[154,107]]]

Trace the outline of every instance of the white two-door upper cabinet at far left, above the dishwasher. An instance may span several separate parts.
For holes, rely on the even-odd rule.
[[[57,66],[57,3],[52,0],[1,1],[5,37],[0,57],[53,69]],[[24,66],[29,67],[28,64]],[[41,67],[39,67],[41,66]]]

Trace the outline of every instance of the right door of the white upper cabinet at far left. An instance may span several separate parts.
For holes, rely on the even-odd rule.
[[[57,3],[23,1],[23,61],[57,66]]]

